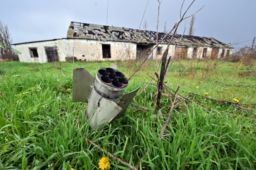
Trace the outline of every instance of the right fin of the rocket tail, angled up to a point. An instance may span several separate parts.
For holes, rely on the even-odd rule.
[[[122,108],[122,111],[114,119],[118,119],[123,115],[123,113],[128,108],[129,104],[133,100],[133,97],[138,92],[139,88],[141,88],[141,87],[138,87],[134,91],[132,91],[130,93],[126,93],[122,96],[122,98],[120,99],[120,102],[118,103],[118,105]]]

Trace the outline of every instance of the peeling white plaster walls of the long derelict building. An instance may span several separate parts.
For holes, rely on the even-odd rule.
[[[111,58],[103,59],[102,57],[102,44],[110,44]],[[167,48],[167,44],[160,44],[162,46],[162,54]],[[135,60],[137,45],[135,43],[127,42],[113,42],[113,41],[96,41],[96,40],[85,40],[85,39],[58,39],[49,40],[42,42],[31,42],[24,44],[17,44],[17,50],[21,51],[19,54],[19,60],[22,62],[47,62],[47,56],[45,47],[56,47],[58,50],[59,61],[65,61],[65,57],[77,57],[82,60]],[[154,46],[153,46],[154,47]],[[151,49],[153,49],[153,47]],[[37,48],[39,57],[31,57],[29,48]],[[150,47],[149,47],[150,48]],[[161,55],[156,56],[155,49],[150,54],[149,59],[161,59]],[[220,58],[222,50],[225,50],[224,57],[226,56],[227,50],[230,50],[232,54],[233,49],[219,49],[218,58]],[[211,56],[211,48],[207,48],[206,58]],[[173,57],[175,53],[175,45],[169,46],[168,56]],[[197,58],[202,58],[203,47],[197,48]],[[193,54],[193,47],[189,47],[187,50],[187,58],[191,58]]]

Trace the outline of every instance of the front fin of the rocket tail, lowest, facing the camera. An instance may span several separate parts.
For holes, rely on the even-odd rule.
[[[90,127],[94,129],[98,125],[108,124],[121,110],[113,101],[102,98],[91,118]]]

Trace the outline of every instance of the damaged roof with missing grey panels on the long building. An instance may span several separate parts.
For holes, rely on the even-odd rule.
[[[158,33],[158,41],[166,34]],[[162,42],[168,44],[173,34],[169,34]],[[67,38],[87,39],[101,41],[124,41],[137,44],[156,44],[157,33],[155,31],[144,31],[116,26],[105,26],[97,24],[86,24],[71,22],[67,31]],[[177,45],[181,35],[176,34],[171,44]],[[231,48],[229,45],[215,40],[214,38],[183,35],[179,46],[206,46],[213,48]]]

